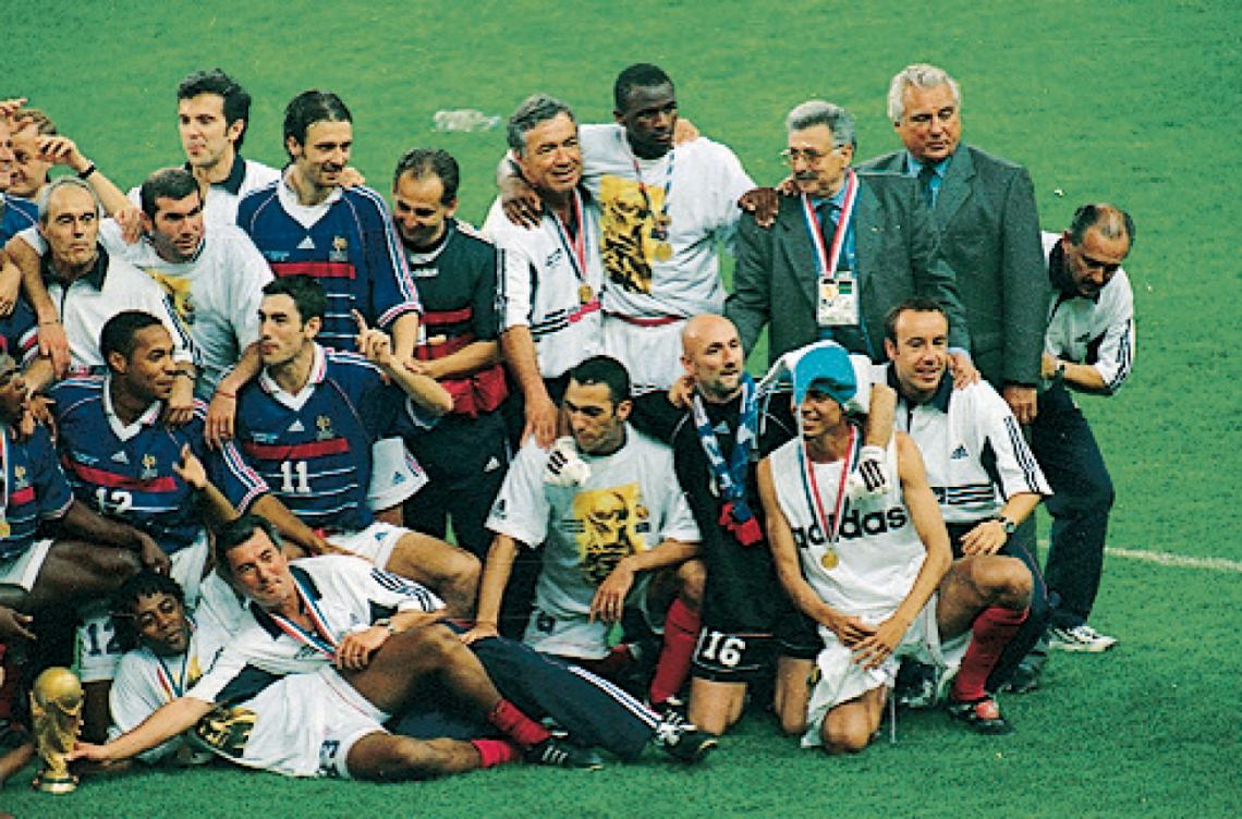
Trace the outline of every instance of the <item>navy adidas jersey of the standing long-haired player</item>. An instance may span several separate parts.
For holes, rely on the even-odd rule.
[[[237,226],[277,277],[307,274],[323,285],[324,346],[354,349],[358,326],[350,310],[381,328],[421,310],[388,205],[369,187],[338,187],[308,207],[282,179],[241,200]]]

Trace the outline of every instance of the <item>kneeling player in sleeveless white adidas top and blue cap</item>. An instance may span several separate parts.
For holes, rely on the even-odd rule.
[[[856,753],[871,742],[899,656],[950,665],[965,649],[955,638],[969,639],[981,611],[1025,609],[1031,593],[1030,573],[1015,558],[953,562],[923,459],[904,433],[886,457],[897,481],[878,495],[847,496],[862,434],[843,406],[857,388],[841,346],[822,342],[805,352],[794,367],[801,438],[759,464],[777,576],[825,643],[814,687],[801,692],[802,743],[830,753]]]

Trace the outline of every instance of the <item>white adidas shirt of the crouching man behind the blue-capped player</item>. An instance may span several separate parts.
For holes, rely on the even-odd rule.
[[[874,383],[897,390],[892,366],[877,366]],[[936,393],[920,405],[898,391],[893,428],[908,433],[922,450],[946,522],[991,517],[1017,493],[1052,494],[1017,419],[986,381],[954,390],[945,374]]]

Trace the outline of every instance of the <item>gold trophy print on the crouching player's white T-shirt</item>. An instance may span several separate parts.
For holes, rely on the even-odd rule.
[[[647,548],[640,536],[650,512],[642,504],[638,484],[592,489],[574,495],[578,553],[582,578],[599,586],[622,557]]]

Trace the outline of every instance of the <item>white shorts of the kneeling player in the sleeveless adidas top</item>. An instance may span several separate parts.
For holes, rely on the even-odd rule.
[[[837,640],[836,634],[822,625],[820,627],[823,650],[815,660],[820,680],[815,684],[815,690],[811,691],[811,700],[806,710],[804,748],[823,745],[820,727],[828,711],[882,685],[892,687],[897,680],[897,668],[903,656],[913,656],[920,663],[935,665],[941,671],[961,663],[961,655],[965,654],[966,645],[970,643],[970,630],[968,629],[961,637],[955,637],[941,645],[940,629],[935,623],[938,597],[938,594],[932,596],[932,599],[928,601],[902,637],[897,649],[877,669],[864,669],[854,663],[853,653]],[[887,614],[874,618],[863,615],[862,619],[868,623],[878,623],[886,617]]]

